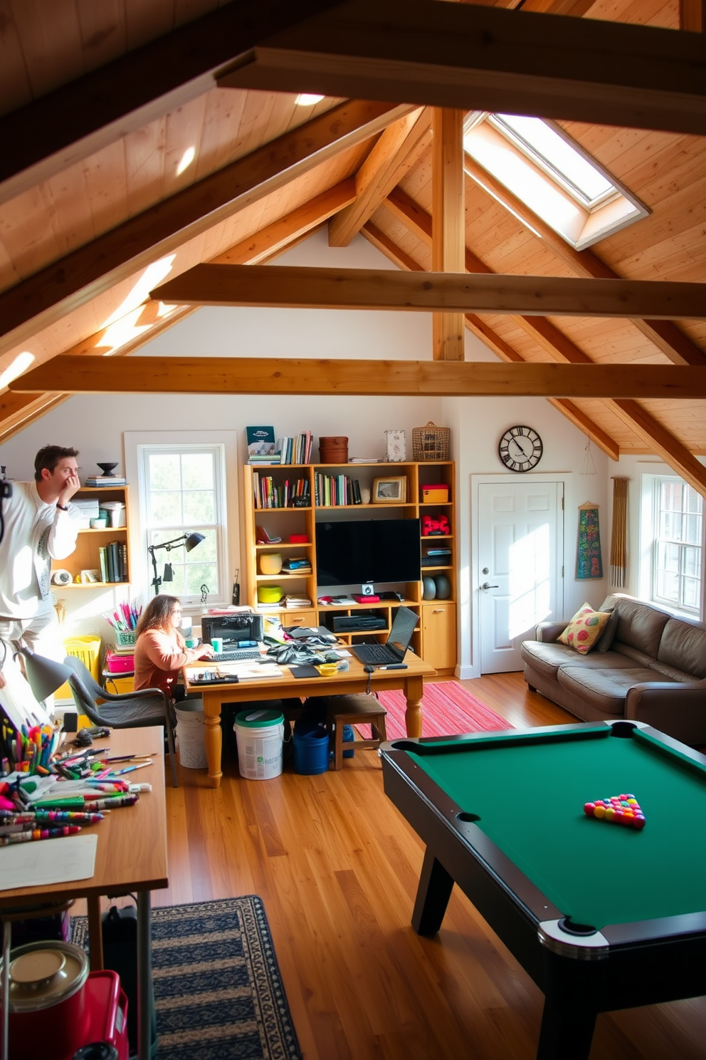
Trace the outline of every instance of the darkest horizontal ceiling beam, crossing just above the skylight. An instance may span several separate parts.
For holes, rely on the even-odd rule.
[[[218,84],[706,134],[696,35],[435,0],[342,3],[260,40]]]

